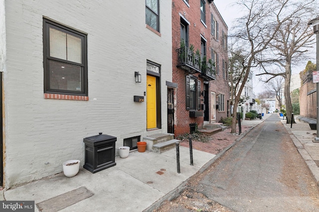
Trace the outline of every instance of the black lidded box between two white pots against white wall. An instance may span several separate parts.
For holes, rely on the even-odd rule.
[[[115,166],[116,137],[99,133],[83,139],[85,143],[85,163],[83,168],[92,173]]]

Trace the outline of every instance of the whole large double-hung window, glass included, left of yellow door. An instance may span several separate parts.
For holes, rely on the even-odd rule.
[[[88,95],[87,35],[43,19],[44,93]]]

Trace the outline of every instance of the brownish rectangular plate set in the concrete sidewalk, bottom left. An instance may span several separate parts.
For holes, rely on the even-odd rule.
[[[57,212],[91,196],[93,196],[91,191],[87,190],[85,187],[80,187],[41,203],[37,203],[36,206],[40,212]]]

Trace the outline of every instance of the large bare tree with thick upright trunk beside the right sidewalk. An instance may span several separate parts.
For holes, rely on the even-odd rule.
[[[263,52],[263,73],[256,75],[267,74],[271,77],[282,76],[285,78],[284,94],[285,105],[287,112],[287,123],[295,123],[291,120],[293,112],[292,101],[290,96],[290,81],[292,74],[292,66],[306,59],[305,53],[308,51],[307,47],[314,44],[313,30],[308,26],[308,21],[315,15],[315,0],[278,0],[282,5],[282,15],[277,16],[276,36],[270,42],[267,51]],[[285,21],[283,21],[285,20]],[[271,35],[272,36],[272,35]],[[266,65],[268,62],[268,66]],[[273,64],[277,64],[280,72],[273,71],[271,68]],[[275,69],[276,70],[276,69]]]

